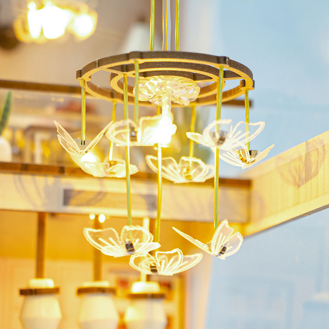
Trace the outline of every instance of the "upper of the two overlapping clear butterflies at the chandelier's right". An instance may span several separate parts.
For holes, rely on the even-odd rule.
[[[249,132],[247,133],[246,122],[240,121],[234,127],[231,122],[231,119],[213,121],[203,130],[202,135],[188,132],[186,136],[196,143],[229,151],[254,139],[265,127],[263,121],[249,123]]]

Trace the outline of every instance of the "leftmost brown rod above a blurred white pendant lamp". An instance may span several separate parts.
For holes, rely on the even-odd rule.
[[[36,278],[44,278],[44,261],[46,251],[46,213],[38,213]]]

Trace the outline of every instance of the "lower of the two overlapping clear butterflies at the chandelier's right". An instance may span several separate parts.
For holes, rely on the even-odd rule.
[[[241,145],[241,149],[233,149],[219,153],[219,158],[229,164],[241,167],[242,169],[248,168],[253,164],[263,160],[271,148],[274,146],[267,147],[263,152],[256,150],[248,150],[245,145]]]

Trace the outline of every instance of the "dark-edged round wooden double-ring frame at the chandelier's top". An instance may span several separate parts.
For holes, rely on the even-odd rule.
[[[254,89],[251,70],[245,65],[232,61],[228,57],[213,56],[177,51],[134,51],[128,54],[105,57],[91,62],[77,71],[77,79],[87,81],[86,91],[108,101],[123,103],[123,74],[135,78],[135,61],[139,63],[139,76],[179,76],[195,83],[208,83],[201,86],[198,98],[191,105],[216,104],[216,91],[219,69],[224,67],[224,83],[226,80],[240,80],[240,84],[223,92],[222,102],[233,100],[244,94],[245,90]],[[104,89],[91,82],[92,74],[98,71],[110,73],[110,84],[113,89]],[[209,84],[210,83],[210,84]],[[128,103],[134,103],[134,86],[128,85]],[[139,102],[141,106],[152,105],[149,102]],[[174,107],[182,105],[173,103]]]

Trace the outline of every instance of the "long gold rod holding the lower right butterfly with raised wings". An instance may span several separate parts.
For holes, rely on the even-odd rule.
[[[224,68],[220,67],[219,70],[219,79],[217,80],[217,95],[216,95],[216,120],[220,119],[221,108],[222,108],[222,93],[223,93],[223,76]],[[220,129],[220,128],[219,128]],[[215,151],[215,218],[214,218],[214,227],[218,227],[218,189],[219,189],[219,149],[216,147]]]

